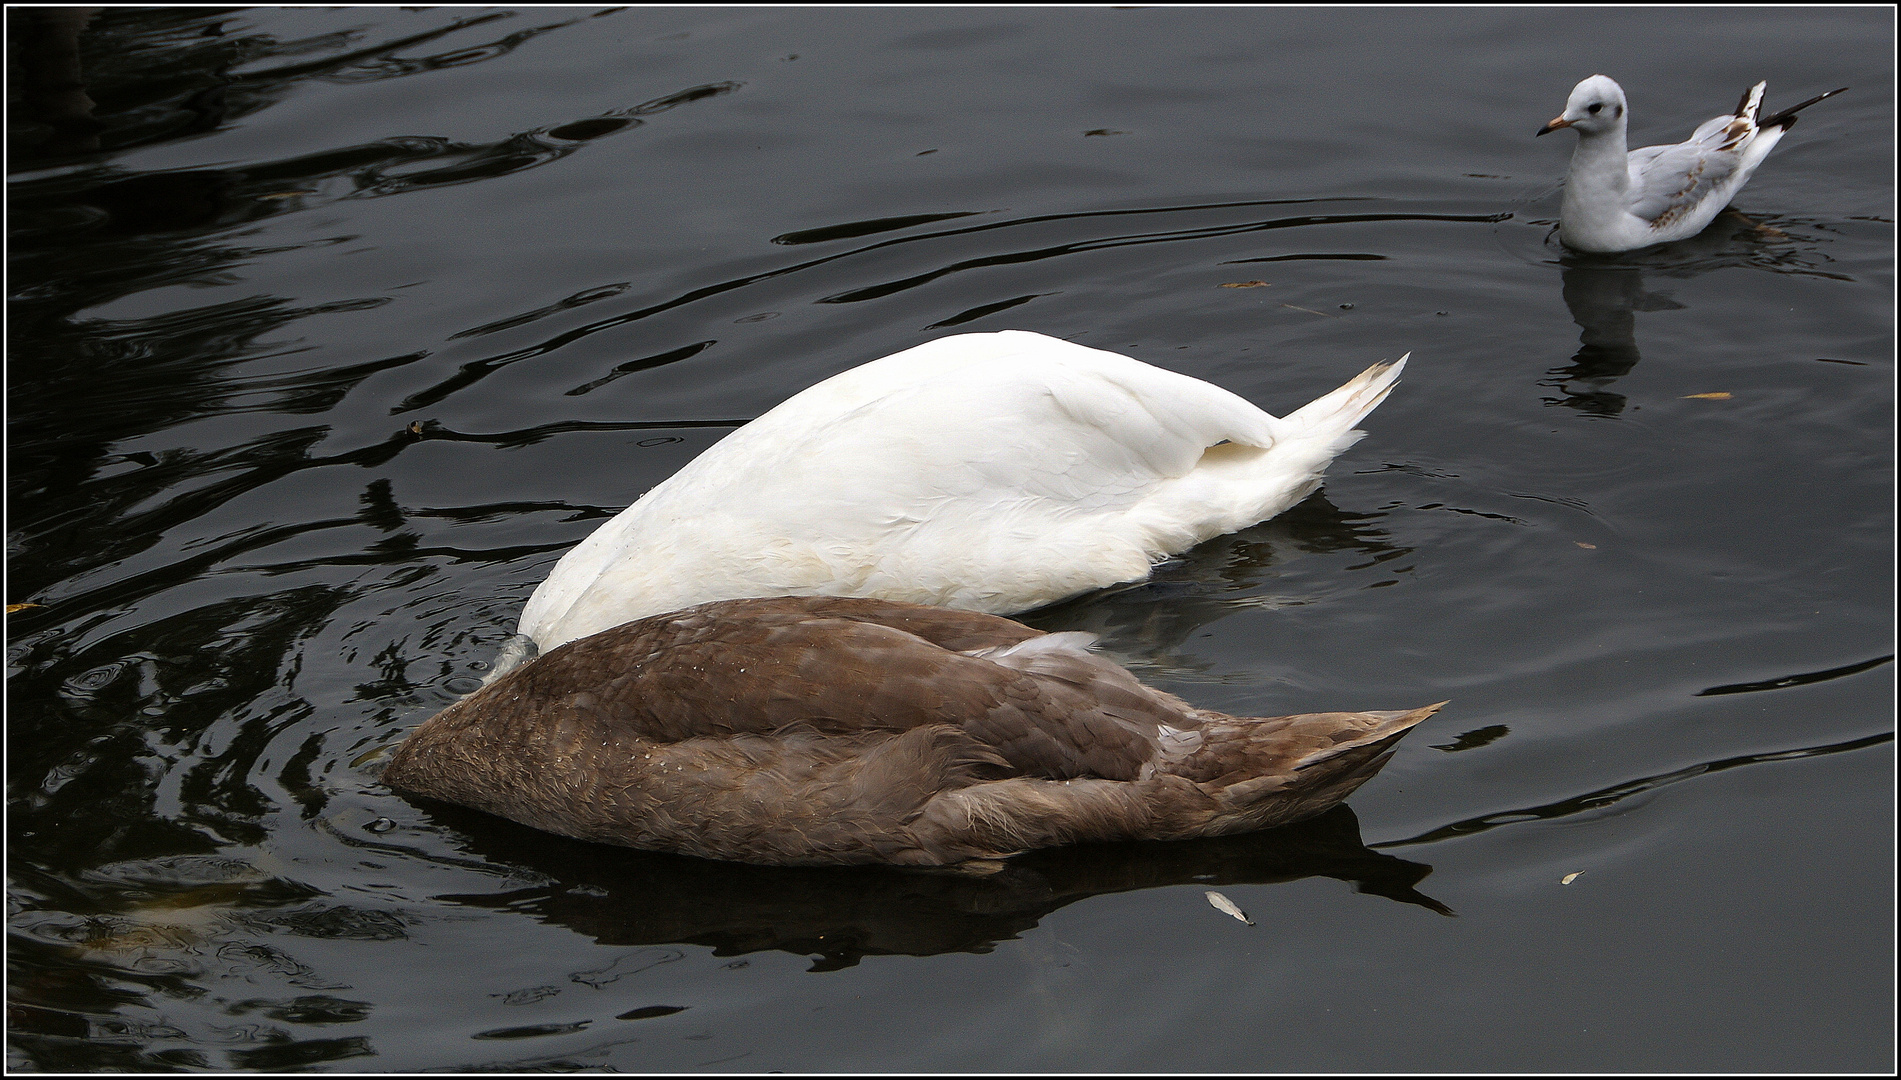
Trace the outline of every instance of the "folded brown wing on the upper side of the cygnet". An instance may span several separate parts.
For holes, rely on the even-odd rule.
[[[806,599],[747,601],[745,618],[726,614],[730,605],[703,605],[624,624],[504,675],[445,717],[462,711],[496,724],[511,702],[532,702],[542,715],[574,715],[578,738],[614,730],[656,742],[791,724],[827,734],[949,724],[1015,774],[1051,780],[1135,780],[1165,753],[1160,728],[1200,723],[1074,635],[1036,646],[1036,631],[994,633],[977,622],[1015,626],[994,616],[918,614],[905,629],[878,622],[888,618],[880,601],[821,607],[829,610]],[[943,648],[914,631],[975,648]]]

